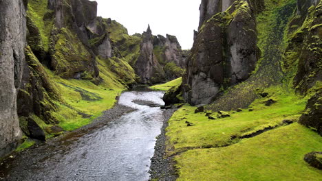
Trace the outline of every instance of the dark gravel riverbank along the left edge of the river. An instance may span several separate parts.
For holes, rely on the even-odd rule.
[[[43,165],[45,160],[54,160],[59,162],[64,152],[69,152],[72,147],[69,147],[73,142],[81,141],[81,137],[86,134],[93,134],[97,129],[103,128],[107,123],[115,121],[122,115],[132,112],[133,108],[116,104],[114,108],[106,110],[103,115],[96,118],[89,125],[85,125],[77,130],[67,132],[62,136],[52,138],[46,143],[38,143],[32,147],[23,150],[22,152],[15,152],[10,154],[2,162],[0,162],[0,180],[25,180],[32,178],[32,180],[41,180],[46,178],[44,175],[34,176],[33,172],[41,167],[48,167]],[[61,149],[65,147],[65,149]],[[50,152],[48,152],[50,150]],[[73,170],[70,170],[71,174]],[[62,180],[62,178],[48,178],[50,180]]]

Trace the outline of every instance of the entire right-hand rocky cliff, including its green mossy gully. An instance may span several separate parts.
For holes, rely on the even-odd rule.
[[[224,8],[224,3],[231,5]],[[182,83],[184,99],[211,104],[212,110],[236,110],[247,108],[265,88],[290,84],[314,95],[301,122],[320,130],[319,111],[312,105],[319,105],[315,92],[322,80],[321,1],[224,3],[202,1]]]

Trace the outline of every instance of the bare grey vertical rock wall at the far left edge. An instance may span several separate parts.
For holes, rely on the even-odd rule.
[[[25,55],[26,14],[22,0],[0,1],[0,157],[21,138],[17,89]],[[9,145],[9,146],[8,146]]]

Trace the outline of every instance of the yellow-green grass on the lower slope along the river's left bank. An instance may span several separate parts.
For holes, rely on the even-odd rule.
[[[109,84],[113,82],[111,79],[96,86],[88,80],[65,80],[53,75],[53,73],[52,76],[54,76],[54,81],[61,91],[63,99],[63,102],[56,102],[58,112],[53,112],[53,114],[60,122],[59,125],[67,131],[75,130],[91,123],[104,110],[112,108],[116,103],[116,97],[125,90],[125,87],[116,80],[114,84]],[[88,97],[96,97],[96,99],[84,99],[81,93],[76,91],[76,88],[83,91],[82,93],[88,95]],[[80,112],[87,114],[87,116],[83,117],[79,114]]]

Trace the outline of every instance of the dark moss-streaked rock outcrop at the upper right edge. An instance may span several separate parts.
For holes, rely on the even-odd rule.
[[[320,1],[319,5],[316,5],[316,1],[305,2],[304,5],[299,6],[302,7],[299,13],[303,14],[306,11],[307,15],[300,16],[300,19],[297,19],[298,16],[295,16],[292,20],[292,25],[301,21],[303,23],[299,25],[299,29],[295,30],[291,36],[290,45],[288,45],[286,51],[286,56],[289,59],[287,60],[288,64],[286,64],[289,67],[286,67],[286,69],[296,66],[294,63],[299,62],[297,65],[297,73],[294,77],[294,87],[297,87],[297,90],[301,93],[305,93],[317,81],[322,80],[322,49],[320,48],[322,46],[322,2]],[[298,4],[301,4],[301,1],[298,1]],[[311,5],[316,6],[310,8],[310,10],[304,9]],[[296,56],[289,56],[294,55],[294,53]]]

